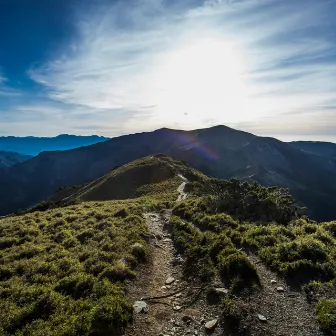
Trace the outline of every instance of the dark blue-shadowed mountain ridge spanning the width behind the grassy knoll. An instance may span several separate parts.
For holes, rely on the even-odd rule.
[[[285,143],[226,126],[121,136],[88,147],[44,152],[0,170],[0,214],[35,205],[60,187],[87,183],[116,166],[162,153],[209,176],[289,188],[313,218],[335,219],[336,162],[327,147],[336,144]]]

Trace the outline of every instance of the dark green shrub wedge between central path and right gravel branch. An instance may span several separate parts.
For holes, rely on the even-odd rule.
[[[178,217],[172,217],[172,237],[186,257],[185,273],[209,281],[218,273],[235,292],[259,284],[257,272],[247,256],[223,232],[201,232]]]

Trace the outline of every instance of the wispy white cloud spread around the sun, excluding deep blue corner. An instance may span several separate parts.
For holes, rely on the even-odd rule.
[[[330,103],[336,89],[335,10],[329,0],[134,0],[92,6],[75,16],[78,40],[28,73],[62,105],[43,115],[67,116],[73,130],[90,129],[91,123],[110,135],[224,123],[280,137],[310,132],[314,138],[336,127]],[[225,78],[230,64],[212,80],[211,58],[208,69],[190,68],[196,73],[181,61],[188,50],[190,63],[206,64],[190,50],[207,40],[227,43],[221,53],[233,50],[237,57],[223,62],[239,59],[239,82],[234,74]],[[167,66],[175,59],[181,71]],[[185,80],[187,75],[193,79]],[[188,88],[197,81],[204,83]]]

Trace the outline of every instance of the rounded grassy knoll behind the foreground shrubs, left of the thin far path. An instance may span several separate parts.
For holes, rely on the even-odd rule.
[[[156,154],[116,167],[108,174],[85,185],[59,190],[50,202],[105,201],[142,196],[154,200],[175,201],[183,175],[191,181],[205,181],[208,177],[183,161]]]

